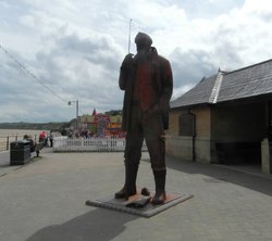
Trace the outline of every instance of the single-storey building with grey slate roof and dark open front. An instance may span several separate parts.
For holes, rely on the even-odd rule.
[[[171,102],[166,153],[271,174],[271,103],[272,60],[202,78]]]

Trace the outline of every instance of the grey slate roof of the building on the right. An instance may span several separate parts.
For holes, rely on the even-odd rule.
[[[272,60],[233,72],[219,71],[170,104],[172,109],[217,104],[267,93],[272,93]]]

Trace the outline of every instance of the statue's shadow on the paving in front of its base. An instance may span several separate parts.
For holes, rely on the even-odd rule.
[[[136,216],[97,208],[62,225],[46,227],[26,241],[108,241],[125,230]]]

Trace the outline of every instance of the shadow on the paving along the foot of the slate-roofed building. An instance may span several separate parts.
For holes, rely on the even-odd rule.
[[[149,162],[149,160],[144,161]],[[166,166],[187,174],[206,175],[219,181],[231,182],[272,196],[272,177],[244,173],[227,166],[183,161],[172,156],[166,156]],[[210,180],[207,179],[207,181]]]

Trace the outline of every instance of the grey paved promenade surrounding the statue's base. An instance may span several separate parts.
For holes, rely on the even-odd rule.
[[[194,194],[151,218],[86,206],[123,186],[123,153],[0,152],[1,241],[272,241],[272,178],[168,157],[166,189]],[[153,188],[148,154],[138,186]]]

